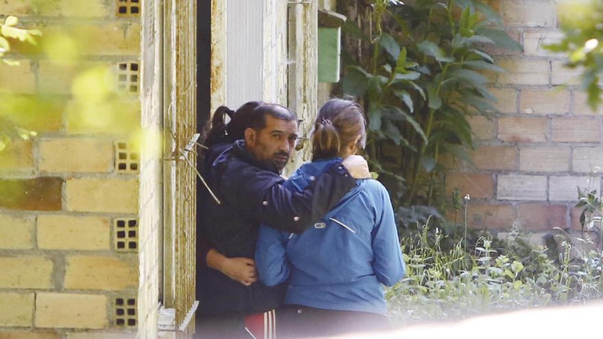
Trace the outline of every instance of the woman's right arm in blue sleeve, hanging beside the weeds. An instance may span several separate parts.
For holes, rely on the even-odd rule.
[[[406,265],[402,258],[400,243],[398,239],[397,227],[391,200],[387,190],[378,184],[379,194],[376,204],[382,208],[377,208],[381,212],[377,216],[376,225],[372,231],[372,247],[375,255],[373,260],[373,271],[377,279],[386,286],[393,286],[404,277]]]

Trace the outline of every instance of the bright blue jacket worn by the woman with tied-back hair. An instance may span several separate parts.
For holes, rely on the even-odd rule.
[[[304,164],[284,186],[304,190],[337,161],[341,159]],[[373,179],[357,183],[302,234],[260,227],[260,281],[275,286],[288,279],[285,303],[385,314],[380,284],[393,286],[406,266],[387,190]]]

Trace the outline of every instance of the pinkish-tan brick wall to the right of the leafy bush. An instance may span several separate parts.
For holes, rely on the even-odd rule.
[[[576,187],[601,191],[600,174],[589,173],[603,165],[603,110],[587,107],[576,88],[578,73],[563,66],[563,55],[543,49],[562,36],[554,1],[494,3],[524,51],[491,50],[506,69],[492,84],[501,113],[492,121],[471,118],[474,164],[457,164],[448,192],[457,187],[471,194],[473,227],[506,230],[517,222],[530,231],[579,229]]]

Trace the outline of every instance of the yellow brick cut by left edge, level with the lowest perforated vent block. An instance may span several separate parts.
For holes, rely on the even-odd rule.
[[[0,326],[31,326],[33,314],[33,293],[0,292]]]

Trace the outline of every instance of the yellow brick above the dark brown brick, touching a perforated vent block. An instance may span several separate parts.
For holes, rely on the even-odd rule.
[[[40,141],[40,171],[109,172],[113,167],[110,140],[60,138]]]

